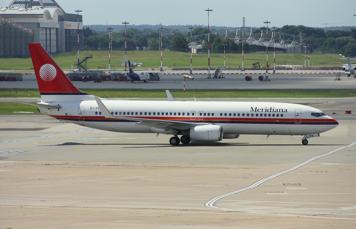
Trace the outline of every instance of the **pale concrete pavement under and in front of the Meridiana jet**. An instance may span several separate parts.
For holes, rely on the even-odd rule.
[[[251,135],[171,146],[163,134],[0,116],[1,227],[355,228],[355,99],[264,99],[275,100],[340,124],[306,146]]]

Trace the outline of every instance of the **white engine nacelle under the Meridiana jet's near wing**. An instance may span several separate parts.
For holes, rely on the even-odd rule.
[[[218,142],[223,139],[223,127],[218,125],[195,126],[187,131],[193,141]]]

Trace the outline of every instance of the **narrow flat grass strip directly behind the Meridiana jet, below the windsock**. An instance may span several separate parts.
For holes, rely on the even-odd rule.
[[[93,89],[81,88],[83,92],[103,98],[166,98],[165,90],[158,89]],[[295,90],[264,90],[264,89],[190,89],[183,93],[181,89],[170,90],[176,98],[341,98],[354,97],[354,90],[315,90],[315,89],[295,89]],[[40,92],[38,89],[20,89],[20,88],[0,88],[0,97],[2,98],[38,98]]]

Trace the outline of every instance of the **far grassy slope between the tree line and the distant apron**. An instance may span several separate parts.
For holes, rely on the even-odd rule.
[[[91,70],[109,67],[109,52],[108,51],[81,51],[80,59],[87,54],[93,54],[87,62],[87,66]],[[121,61],[125,60],[125,51],[111,51],[111,69],[122,70]],[[73,52],[69,56],[57,56],[53,59],[63,70],[70,70],[71,65],[75,67],[77,62],[77,52]],[[158,68],[161,66],[160,51],[130,51],[127,53],[127,59],[135,62],[143,63],[142,69]],[[244,55],[244,67],[251,67],[254,62],[260,62],[261,67],[266,65],[266,53],[250,53]],[[273,65],[273,53],[269,55],[270,64]],[[308,62],[308,60],[307,60]],[[320,54],[310,55],[310,66],[342,66],[347,63],[345,58],[341,58],[337,54]],[[190,67],[190,53],[163,51],[163,66],[172,68]],[[307,63],[308,64],[308,63]],[[210,54],[210,66],[223,66],[224,54]],[[242,65],[242,54],[226,54],[226,67],[240,67]],[[304,65],[304,54],[276,54],[276,65]],[[193,54],[193,67],[207,67],[208,54]],[[33,72],[31,58],[0,58],[0,70],[21,70]],[[140,68],[137,68],[140,69]]]

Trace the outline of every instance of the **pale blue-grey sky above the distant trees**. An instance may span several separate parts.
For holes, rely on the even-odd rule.
[[[67,13],[82,10],[84,25],[208,25],[262,27],[356,26],[355,0],[56,0]],[[11,0],[0,0],[9,5]],[[269,3],[268,3],[269,2]]]

